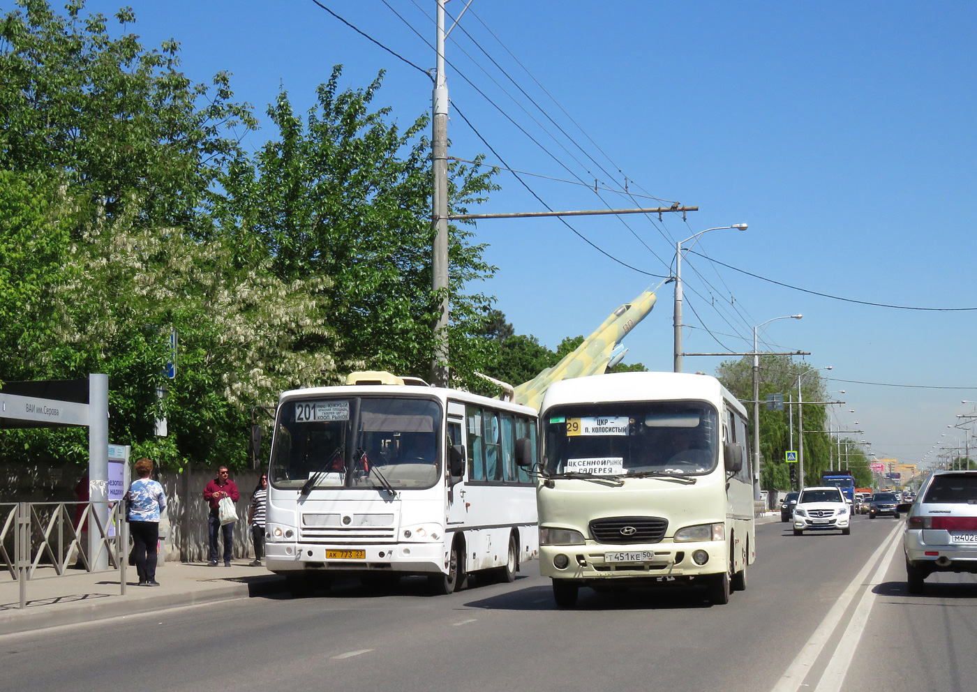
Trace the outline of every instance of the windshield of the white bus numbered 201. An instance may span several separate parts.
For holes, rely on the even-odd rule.
[[[278,488],[429,488],[441,477],[433,399],[288,399],[279,407],[271,481]]]

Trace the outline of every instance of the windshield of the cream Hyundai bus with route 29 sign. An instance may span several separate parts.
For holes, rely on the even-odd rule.
[[[702,401],[556,406],[544,417],[550,475],[707,473],[717,459],[718,416]]]

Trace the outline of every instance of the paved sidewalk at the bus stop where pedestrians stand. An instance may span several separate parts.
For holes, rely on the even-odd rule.
[[[48,577],[38,569],[27,582],[23,609],[18,607],[20,585],[4,572],[0,574],[0,635],[284,590],[282,577],[247,563],[241,559],[231,567],[208,567],[203,562],[167,562],[156,570],[159,587],[136,586],[136,568],[128,567],[125,595],[119,593],[118,571],[68,570],[62,577]]]

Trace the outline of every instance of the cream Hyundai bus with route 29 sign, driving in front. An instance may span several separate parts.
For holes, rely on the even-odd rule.
[[[566,380],[540,412],[539,570],[561,607],[580,587],[746,587],[753,486],[746,410],[705,375]]]

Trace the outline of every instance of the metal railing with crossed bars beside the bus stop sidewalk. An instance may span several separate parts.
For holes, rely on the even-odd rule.
[[[107,506],[105,521],[97,506]],[[81,531],[86,522],[89,535],[96,532],[94,546]],[[53,568],[54,575],[41,579],[62,577],[69,569],[118,570],[119,592],[125,595],[128,546],[125,503],[0,503],[0,570],[20,584],[21,608],[27,604],[27,582],[38,578],[42,567]],[[106,563],[107,569],[100,567]]]

